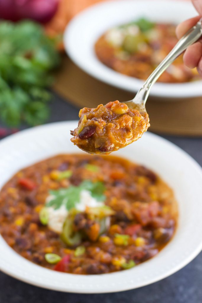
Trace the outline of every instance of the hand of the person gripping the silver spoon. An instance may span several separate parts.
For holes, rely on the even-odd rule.
[[[192,0],[192,3],[200,16],[188,19],[177,26],[176,35],[178,39],[180,39],[192,26],[194,26],[202,16],[202,1]],[[202,76],[202,38],[186,49],[183,60],[187,67],[197,67],[198,73]]]

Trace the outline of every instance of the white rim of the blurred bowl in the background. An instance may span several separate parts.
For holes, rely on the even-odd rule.
[[[137,92],[143,81],[115,72],[102,64],[94,53],[94,43],[109,28],[139,17],[154,22],[178,24],[197,15],[188,1],[121,0],[94,5],[77,15],[68,25],[64,43],[70,58],[85,72],[108,84]],[[202,95],[202,81],[169,84],[155,83],[151,95],[167,98],[187,98]],[[118,98],[118,97],[117,97]]]

